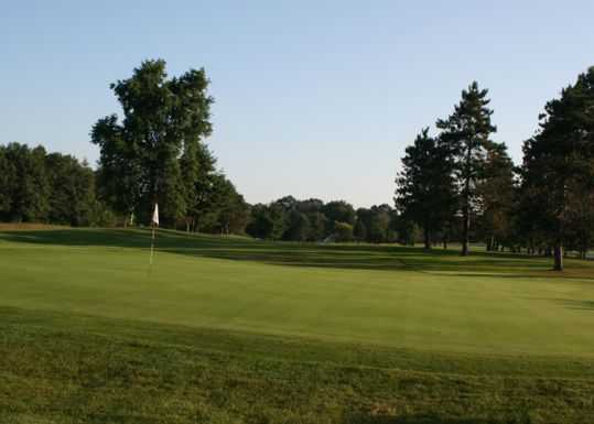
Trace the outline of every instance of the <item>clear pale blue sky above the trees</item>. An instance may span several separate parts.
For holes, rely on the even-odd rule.
[[[250,203],[391,204],[404,146],[473,79],[516,161],[538,113],[594,64],[592,1],[6,1],[0,143],[94,163],[108,85],[145,58],[205,67],[208,140]]]

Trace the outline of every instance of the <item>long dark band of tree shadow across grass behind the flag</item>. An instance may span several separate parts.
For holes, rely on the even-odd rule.
[[[2,231],[0,240],[36,244],[71,247],[114,247],[148,249],[150,231],[147,229],[57,229],[36,231]],[[473,252],[462,258],[457,250],[399,247],[388,244],[320,244],[260,241],[245,237],[218,237],[185,235],[161,230],[156,249],[169,253],[253,261],[268,264],[334,268],[355,270],[410,270],[418,272],[444,272],[451,276],[527,278],[555,276],[548,273],[548,260],[511,253]],[[577,275],[559,274],[564,278],[594,280],[592,267],[574,262],[574,269],[587,272]],[[587,275],[584,275],[587,274]]]

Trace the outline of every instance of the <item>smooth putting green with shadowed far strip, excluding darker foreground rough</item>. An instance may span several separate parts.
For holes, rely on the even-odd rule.
[[[438,351],[594,357],[594,263],[142,230],[0,233],[0,306]]]

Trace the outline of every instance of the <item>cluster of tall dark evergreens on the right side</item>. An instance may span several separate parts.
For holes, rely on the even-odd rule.
[[[492,140],[488,91],[473,83],[436,133],[424,129],[402,157],[396,207],[423,229],[425,248],[484,241],[488,250],[525,249],[582,257],[594,244],[594,67],[549,101],[515,166]],[[456,236],[460,231],[460,236]]]

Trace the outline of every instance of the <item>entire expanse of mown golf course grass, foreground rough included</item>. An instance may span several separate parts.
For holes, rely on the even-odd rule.
[[[0,235],[1,423],[591,423],[594,265]]]

